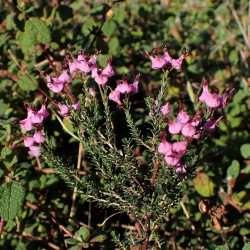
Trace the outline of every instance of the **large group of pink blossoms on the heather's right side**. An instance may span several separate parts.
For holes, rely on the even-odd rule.
[[[179,113],[174,121],[173,118],[168,118],[168,131],[174,136],[181,134],[183,141],[170,143],[163,139],[158,147],[158,152],[165,155],[165,161],[170,166],[175,166],[176,173],[186,173],[187,166],[181,164],[181,157],[186,155],[187,145],[193,139],[199,139],[201,134],[206,132],[215,132],[216,125],[222,117],[217,121],[214,120],[213,115],[216,108],[225,108],[227,97],[234,89],[227,89],[226,92],[219,97],[217,91],[211,94],[208,91],[208,83],[203,79],[203,92],[199,97],[200,102],[206,103],[210,109],[210,117],[202,119],[201,114],[197,111],[194,117],[191,117],[187,111],[184,111],[183,106],[180,105]],[[166,110],[166,111],[165,111]],[[163,114],[170,113],[169,102],[162,106]]]

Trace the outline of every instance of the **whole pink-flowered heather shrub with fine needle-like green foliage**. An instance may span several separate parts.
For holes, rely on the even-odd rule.
[[[152,69],[162,69],[163,77],[158,96],[155,99],[145,99],[150,120],[149,134],[144,137],[130,114],[129,101],[130,96],[139,91],[141,75],[138,74],[131,84],[123,76],[122,80],[116,80],[116,87],[112,89],[109,78],[115,76],[115,71],[111,66],[111,59],[105,69],[101,69],[96,63],[99,53],[89,59],[89,55],[84,57],[79,50],[78,57],[73,62],[66,56],[66,64],[59,77],[43,73],[47,87],[54,93],[61,94],[63,102],[53,100],[52,104],[59,108],[62,117],[68,117],[72,122],[76,138],[82,143],[94,166],[91,169],[94,178],[80,178],[77,172],[65,167],[66,163],[54,152],[50,138],[44,138],[43,120],[49,115],[45,107],[46,100],[40,110],[25,104],[27,118],[19,121],[19,124],[29,134],[31,130],[35,129],[35,132],[32,137],[21,136],[25,147],[29,148],[28,153],[35,157],[41,156],[68,186],[77,188],[82,198],[97,201],[100,206],[113,207],[119,213],[129,216],[135,224],[136,232],[127,237],[127,243],[117,239],[118,245],[123,245],[124,248],[142,245],[142,249],[148,249],[156,244],[155,230],[166,212],[170,212],[182,197],[182,187],[195,170],[204,139],[208,132],[216,129],[219,121],[216,121],[216,109],[225,108],[226,98],[232,90],[227,90],[226,94],[218,97],[217,93],[210,94],[208,83],[204,80],[199,101],[204,102],[206,107],[199,108],[198,103],[191,115],[184,110],[181,100],[178,100],[179,111],[174,121],[176,112],[172,101],[167,101],[167,104],[164,101],[169,81],[168,72],[181,69],[187,51],[177,60],[169,56],[166,46],[163,58],[159,58],[156,52],[153,58],[146,51],[152,61]],[[76,101],[72,96],[70,83],[78,74],[83,84],[83,96]],[[100,103],[96,99],[96,93],[91,94],[94,90],[88,86],[90,76],[99,88]],[[67,88],[66,84],[69,84]],[[115,133],[112,119],[114,111],[110,109],[109,100],[117,104],[115,109],[124,111],[131,131],[131,138],[121,138],[122,145],[117,144],[119,134]],[[46,147],[42,146],[44,142]],[[140,146],[139,154],[134,152],[137,145]],[[145,160],[143,154],[146,154]],[[114,233],[113,236],[115,237]]]

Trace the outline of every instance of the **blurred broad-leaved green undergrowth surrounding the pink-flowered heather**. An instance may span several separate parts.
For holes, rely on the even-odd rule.
[[[14,205],[7,212],[0,201],[1,216],[6,212],[8,219],[3,223],[1,249],[64,249],[70,246],[65,243],[70,234],[78,235],[86,248],[99,244],[100,249],[114,249],[111,231],[122,238],[133,230],[129,218],[121,214],[103,223],[114,211],[75,197],[52,169],[27,155],[19,127],[11,122],[26,116],[23,101],[41,103],[39,90],[55,98],[39,70],[53,74],[51,60],[60,72],[65,53],[76,57],[82,48],[84,53],[102,50],[101,66],[113,56],[117,74],[131,80],[142,74],[140,94],[132,101],[137,123],[143,127],[148,112],[143,98],[154,96],[161,80],[159,72],[151,70],[145,50],[152,52],[165,44],[176,58],[184,48],[190,53],[183,70],[171,73],[166,99],[178,95],[192,108],[203,77],[220,93],[227,87],[235,91],[222,114],[225,118],[206,142],[196,177],[159,228],[162,248],[215,249],[224,244],[211,218],[199,211],[199,202],[209,199],[214,206],[225,205],[224,233],[232,249],[241,249],[250,236],[249,9],[247,0],[0,1],[0,184],[5,188],[0,197],[9,196],[8,190],[24,197],[22,203],[22,197],[11,195],[9,203]],[[72,89],[75,94],[81,91],[79,79]],[[119,119],[117,114],[117,123]],[[64,123],[69,127],[66,119]],[[45,126],[58,153],[76,165],[76,140],[54,115]],[[83,156],[80,174],[87,170]],[[6,189],[10,180],[14,185]]]

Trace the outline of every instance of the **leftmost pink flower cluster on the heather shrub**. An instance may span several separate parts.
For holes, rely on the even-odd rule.
[[[35,157],[41,155],[41,144],[44,143],[45,139],[42,135],[43,120],[49,116],[49,112],[46,109],[46,99],[42,103],[42,107],[36,110],[34,106],[29,106],[25,103],[25,108],[27,109],[27,118],[19,121],[23,130],[31,133],[30,131],[35,130],[32,136],[24,136],[20,134],[23,138],[24,146],[29,148],[29,154]]]

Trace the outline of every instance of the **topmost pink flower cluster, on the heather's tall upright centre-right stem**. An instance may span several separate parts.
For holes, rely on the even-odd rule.
[[[162,57],[158,56],[157,50],[154,50],[153,54],[155,57],[153,57],[148,51],[146,51],[146,55],[152,62],[152,69],[162,69],[164,67],[167,67],[168,69],[181,69],[183,59],[188,55],[188,51],[184,50],[180,58],[173,59],[169,55],[167,46],[165,45],[164,54]]]

